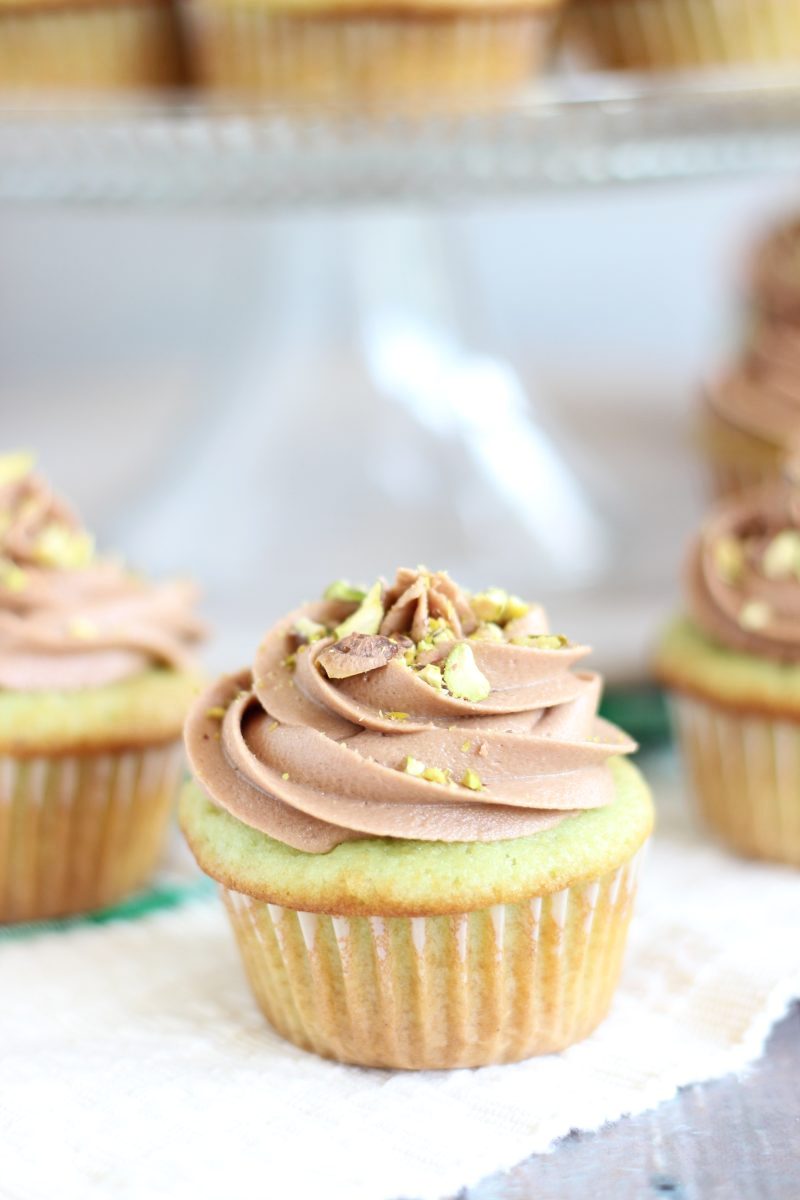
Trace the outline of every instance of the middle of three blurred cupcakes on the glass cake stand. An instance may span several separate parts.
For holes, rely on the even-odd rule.
[[[197,82],[290,103],[468,103],[536,74],[563,0],[182,0]]]

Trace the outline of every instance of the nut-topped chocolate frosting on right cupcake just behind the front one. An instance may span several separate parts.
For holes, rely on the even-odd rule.
[[[710,637],[800,661],[800,493],[774,484],[717,505],[690,551],[687,586]]]

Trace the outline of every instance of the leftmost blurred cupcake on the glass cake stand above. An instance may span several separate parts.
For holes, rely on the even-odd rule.
[[[169,0],[12,0],[0,7],[0,90],[128,91],[180,82]]]

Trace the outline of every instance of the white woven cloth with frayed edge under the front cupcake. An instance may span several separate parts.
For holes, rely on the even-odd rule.
[[[662,817],[608,1020],[560,1056],[359,1070],[282,1042],[216,899],[0,941],[0,1190],[14,1200],[439,1200],[741,1068],[800,995],[800,871]]]

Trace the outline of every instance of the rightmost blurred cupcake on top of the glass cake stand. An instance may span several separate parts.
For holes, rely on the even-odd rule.
[[[790,0],[575,0],[569,31],[614,70],[800,61]]]

